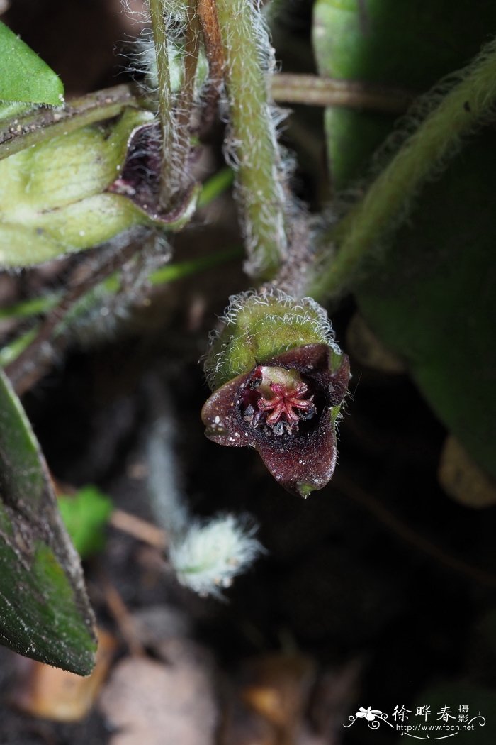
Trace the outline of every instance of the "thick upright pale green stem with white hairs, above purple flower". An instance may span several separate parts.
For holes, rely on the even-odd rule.
[[[286,257],[286,195],[268,93],[272,49],[256,6],[216,1],[248,271],[268,278]]]

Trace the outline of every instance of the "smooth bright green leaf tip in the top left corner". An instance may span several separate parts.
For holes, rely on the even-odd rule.
[[[0,101],[60,106],[64,86],[36,52],[0,22]]]

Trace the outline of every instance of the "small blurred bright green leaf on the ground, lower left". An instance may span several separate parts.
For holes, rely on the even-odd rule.
[[[105,526],[112,513],[112,499],[96,486],[84,486],[72,496],[60,495],[59,510],[65,527],[81,558],[101,551]]]

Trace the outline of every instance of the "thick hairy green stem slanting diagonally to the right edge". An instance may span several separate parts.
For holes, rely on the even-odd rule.
[[[310,282],[312,297],[337,297],[350,287],[362,262],[399,218],[405,217],[425,181],[458,152],[464,136],[486,121],[495,103],[496,42],[491,42],[405,141],[364,197],[323,235],[323,242],[335,244],[338,251]]]

